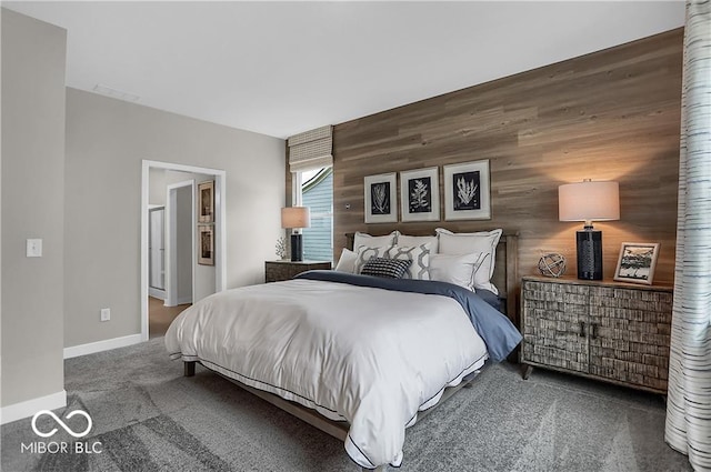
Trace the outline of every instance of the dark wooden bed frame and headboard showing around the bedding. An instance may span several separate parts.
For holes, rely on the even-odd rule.
[[[353,247],[353,234],[347,234],[348,238],[348,247],[349,249]],[[504,233],[499,241],[499,245],[497,247],[497,264],[494,270],[494,275],[492,281],[499,289],[499,298],[502,301],[502,312],[511,319],[514,325],[518,327],[518,315],[517,315],[517,290],[518,290],[518,233]],[[184,376],[193,376],[196,374],[196,363],[198,361],[183,361]],[[214,371],[213,371],[214,372]],[[262,400],[268,401],[280,410],[286,411],[298,419],[306,421],[314,428],[326,432],[327,434],[332,435],[333,438],[339,439],[340,441],[346,441],[346,436],[349,431],[349,423],[346,421],[331,421],[314,410],[302,406],[298,403],[290,402],[288,400],[282,399],[279,395],[276,395],[270,392],[264,392],[262,390],[254,389],[252,386],[246,385],[242,382],[230,379],[227,375],[222,375],[219,372],[214,372],[218,375],[229,380],[230,382],[239,385],[240,388],[247,390],[250,393],[259,396]],[[444,390],[442,393],[442,398],[440,401],[433,405],[432,408],[418,412],[418,421],[422,420],[425,415],[430,414],[437,406],[442,404],[447,399],[457,393],[460,389],[465,386],[471,386],[471,381],[477,376],[478,372],[473,372],[465,376],[462,382],[457,386],[450,386]],[[362,468],[362,471],[369,471],[371,469]],[[384,465],[375,468],[374,471],[382,472],[385,470]]]

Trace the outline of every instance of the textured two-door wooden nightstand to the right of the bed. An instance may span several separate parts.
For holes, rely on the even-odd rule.
[[[524,277],[520,360],[532,366],[667,393],[673,289]]]

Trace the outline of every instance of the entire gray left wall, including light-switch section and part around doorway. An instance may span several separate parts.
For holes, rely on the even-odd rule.
[[[284,143],[66,89],[63,29],[3,9],[1,34],[7,406],[63,391],[63,348],[140,333],[142,160],[226,171],[232,288],[263,281],[282,234]]]

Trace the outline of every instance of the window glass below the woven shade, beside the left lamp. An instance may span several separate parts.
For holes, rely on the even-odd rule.
[[[294,172],[294,204],[309,207],[311,227],[304,228],[303,259],[333,260],[333,168]]]

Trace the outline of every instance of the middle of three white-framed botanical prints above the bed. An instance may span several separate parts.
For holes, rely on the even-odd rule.
[[[400,172],[402,221],[440,221],[438,168]]]

